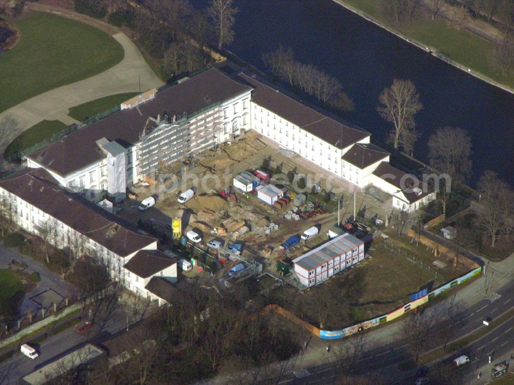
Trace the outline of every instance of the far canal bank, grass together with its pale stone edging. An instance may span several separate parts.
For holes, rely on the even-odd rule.
[[[455,29],[440,17],[435,20],[417,19],[393,27],[384,20],[374,0],[332,1],[431,53],[437,59],[514,94],[514,74],[504,76],[499,67],[491,63],[494,45],[485,38],[464,29]]]

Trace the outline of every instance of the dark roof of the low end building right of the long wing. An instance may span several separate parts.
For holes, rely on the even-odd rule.
[[[373,171],[373,175],[395,186],[398,192],[402,192],[409,203],[414,203],[434,192],[434,188],[429,184],[423,183],[414,175],[407,174],[387,162],[380,163]]]

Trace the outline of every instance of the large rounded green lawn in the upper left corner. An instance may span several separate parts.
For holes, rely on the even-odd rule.
[[[0,60],[0,112],[123,59],[123,47],[112,36],[65,17],[34,12],[16,26],[20,41]]]

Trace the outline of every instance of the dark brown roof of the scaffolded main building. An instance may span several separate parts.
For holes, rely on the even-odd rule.
[[[155,98],[133,108],[123,109],[63,139],[32,152],[27,158],[66,176],[88,164],[105,158],[96,141],[107,138],[129,147],[139,141],[149,117],[174,114],[183,116],[204,109],[212,104],[230,99],[251,88],[237,83],[218,69],[211,68],[191,79],[182,81]]]

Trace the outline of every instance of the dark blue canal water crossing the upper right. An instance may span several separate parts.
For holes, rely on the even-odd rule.
[[[375,110],[394,78],[410,79],[424,109],[414,156],[426,161],[427,140],[438,127],[462,127],[472,138],[474,180],[486,169],[514,185],[514,95],[458,70],[331,0],[236,0],[237,56],[264,69],[261,54],[279,44],[296,58],[336,76],[355,102],[344,119],[386,138]]]

